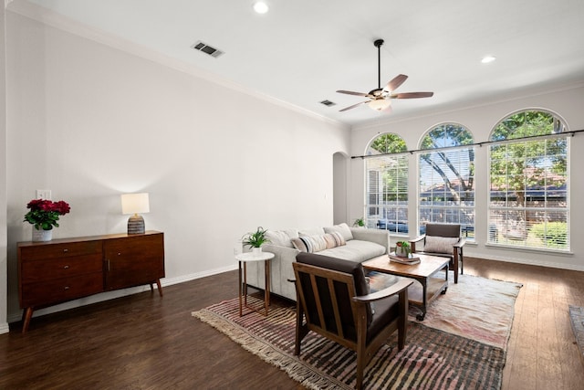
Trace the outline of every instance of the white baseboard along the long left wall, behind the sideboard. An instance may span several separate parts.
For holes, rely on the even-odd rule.
[[[213,276],[213,275],[217,275],[217,274],[220,274],[223,272],[231,271],[234,269],[237,269],[236,265],[223,267],[220,269],[208,269],[208,270],[205,270],[203,272],[196,272],[196,273],[189,274],[189,275],[183,275],[183,276],[180,276],[177,278],[170,278],[170,279],[163,278],[163,279],[161,279],[161,285],[162,285],[162,287],[172,286],[173,284],[179,284],[179,283],[184,283],[184,282],[195,280],[195,279],[201,279],[201,278],[205,278],[208,276]],[[156,286],[154,286],[154,289],[156,289]],[[60,303],[58,305],[50,306],[50,307],[47,307],[45,309],[40,309],[38,311],[35,311],[33,318],[40,317],[40,316],[47,315],[47,314],[51,314],[51,313],[58,312],[58,311],[67,311],[69,309],[75,309],[75,308],[78,308],[81,306],[86,306],[86,305],[90,305],[93,303],[102,302],[104,300],[115,300],[116,298],[125,297],[125,296],[132,295],[132,294],[139,294],[141,292],[149,291],[149,290],[150,290],[150,286],[144,285],[144,286],[139,286],[139,287],[132,287],[130,289],[102,292],[100,294],[91,295],[89,297],[81,298],[78,300],[69,300],[68,302],[65,302],[65,303]],[[21,321],[21,320],[22,320],[22,311],[21,310],[19,310],[17,312],[9,313],[8,319],[7,319],[8,322],[5,323],[5,327],[3,325],[0,325],[0,334],[4,331],[4,328],[5,328],[5,332],[8,332],[8,323]]]

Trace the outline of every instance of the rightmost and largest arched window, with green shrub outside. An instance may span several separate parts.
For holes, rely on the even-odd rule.
[[[569,249],[565,131],[554,114],[527,110],[491,132],[497,143],[489,146],[490,244]]]

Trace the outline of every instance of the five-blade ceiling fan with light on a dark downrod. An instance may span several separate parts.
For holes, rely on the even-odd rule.
[[[368,93],[363,92],[353,92],[350,90],[338,90],[339,93],[345,93],[347,95],[363,96],[369,98],[369,100],[361,101],[360,103],[353,104],[352,106],[346,107],[339,111],[347,111],[359,107],[361,104],[368,104],[372,110],[375,111],[391,111],[391,99],[416,99],[416,98],[430,98],[433,96],[433,92],[403,92],[394,93],[398,87],[403,84],[403,82],[408,79],[406,75],[397,75],[395,78],[391,79],[385,87],[381,88],[381,45],[383,45],[383,39],[377,39],[373,42],[373,45],[377,47],[377,84],[378,87],[375,90],[370,90]]]

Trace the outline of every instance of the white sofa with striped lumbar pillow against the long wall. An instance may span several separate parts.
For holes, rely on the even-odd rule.
[[[336,236],[336,245],[330,244],[332,235]],[[339,235],[342,237],[340,243]],[[270,243],[263,245],[262,250],[275,254],[275,257],[270,260],[270,292],[289,300],[296,300],[294,283],[288,280],[294,279],[292,263],[296,261],[296,256],[300,253],[298,248],[318,253],[318,255],[362,262],[388,253],[390,245],[390,235],[387,230],[349,227],[347,224],[309,229],[268,230],[266,237]],[[304,241],[300,239],[301,237]],[[323,248],[323,240],[328,242],[328,248]],[[315,245],[308,245],[310,248],[306,248],[305,241],[313,242]],[[248,262],[246,267],[247,284],[264,289],[266,285],[264,262]]]

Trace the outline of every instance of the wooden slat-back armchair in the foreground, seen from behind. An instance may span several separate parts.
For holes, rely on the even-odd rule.
[[[359,262],[299,253],[292,265],[297,290],[295,354],[300,354],[302,339],[310,331],[357,352],[360,389],[365,367],[393,332],[398,332],[398,349],[405,346],[412,279],[369,293]]]

